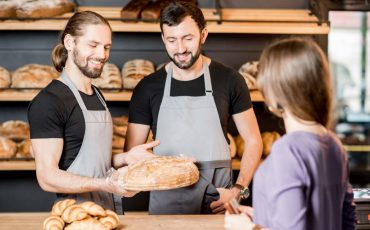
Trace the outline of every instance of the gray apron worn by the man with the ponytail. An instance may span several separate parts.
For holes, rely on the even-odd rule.
[[[85,135],[76,159],[67,172],[86,177],[103,178],[111,167],[112,158],[112,117],[98,90],[93,87],[105,110],[87,110],[80,93],[65,72],[62,78],[73,92],[85,119]],[[68,194],[77,202],[94,201],[105,209],[115,210],[113,195],[107,192],[87,192]]]

